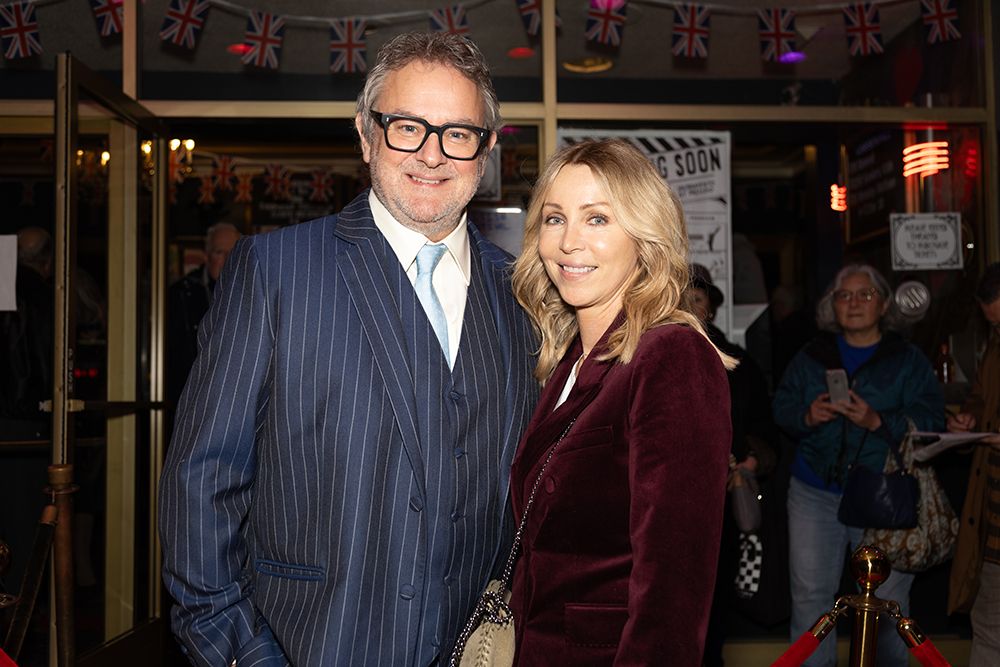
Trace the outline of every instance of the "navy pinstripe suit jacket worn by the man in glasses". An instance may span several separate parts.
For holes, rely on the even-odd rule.
[[[477,349],[507,373],[496,456],[470,479],[491,486],[486,520],[499,525],[537,399],[535,340],[509,256],[469,234],[501,341]],[[367,193],[339,216],[244,238],[229,257],[160,486],[173,628],[195,663],[415,665],[428,653],[423,623],[444,616],[451,631],[468,613],[422,602],[421,509],[444,490],[426,488],[433,443],[418,424],[435,399],[407,350],[401,289],[412,287]],[[452,570],[468,604],[501,548],[503,533],[489,532]]]

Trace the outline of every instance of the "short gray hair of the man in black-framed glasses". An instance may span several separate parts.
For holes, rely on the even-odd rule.
[[[365,87],[358,95],[357,113],[361,117],[365,138],[373,139],[375,121],[368,113],[385,88],[385,80],[390,73],[400,70],[414,61],[422,61],[453,67],[464,74],[479,90],[483,100],[486,129],[496,132],[500,129],[500,102],[493,89],[493,80],[482,51],[471,40],[451,33],[405,32],[393,37],[379,49],[375,65],[368,72]],[[378,109],[383,111],[383,109]]]

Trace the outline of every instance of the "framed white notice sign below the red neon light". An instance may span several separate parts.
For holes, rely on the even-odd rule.
[[[961,269],[962,216],[959,213],[893,213],[892,269]]]

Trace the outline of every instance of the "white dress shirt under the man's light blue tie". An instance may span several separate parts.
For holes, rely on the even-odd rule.
[[[417,253],[424,244],[431,241],[420,232],[399,224],[375,196],[374,190],[368,193],[368,204],[375,218],[375,226],[396,253],[400,265],[406,271],[406,277],[410,279],[410,284],[414,284],[417,280]],[[472,253],[469,249],[469,230],[465,226],[465,213],[462,213],[462,218],[451,234],[439,243],[443,243],[448,252],[441,256],[441,261],[434,268],[431,283],[448,320],[448,351],[451,354],[448,363],[454,367],[455,359],[458,357],[458,344],[462,338],[465,299],[472,275]]]

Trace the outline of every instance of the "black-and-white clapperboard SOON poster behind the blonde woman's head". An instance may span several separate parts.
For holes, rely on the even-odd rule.
[[[586,139],[620,137],[653,163],[681,200],[687,218],[690,259],[704,264],[725,301],[715,325],[727,336],[732,328],[732,196],[728,132],[698,130],[559,129],[559,145]]]

